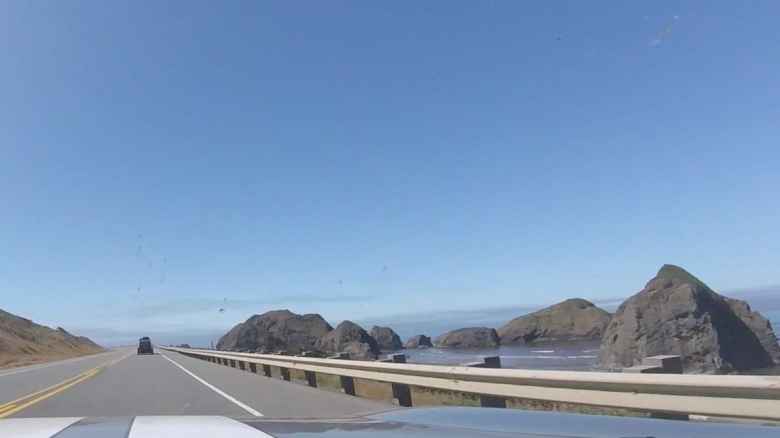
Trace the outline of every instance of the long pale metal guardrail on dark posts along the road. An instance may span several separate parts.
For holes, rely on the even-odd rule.
[[[342,392],[369,398],[390,393],[389,398],[402,406],[457,404],[452,397],[437,401],[431,394],[445,394],[445,399],[446,394],[465,394],[470,395],[466,404],[475,405],[480,399],[495,403],[500,398],[508,407],[538,401],[662,415],[780,421],[780,376],[496,369],[163,348],[309,386],[332,388],[335,378],[335,386]],[[399,397],[403,388],[408,394]]]

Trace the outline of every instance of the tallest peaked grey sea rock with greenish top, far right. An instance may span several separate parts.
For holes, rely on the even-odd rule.
[[[763,317],[759,319],[754,312],[741,307],[684,269],[664,265],[612,317],[601,342],[601,365],[629,367],[638,365],[644,357],[659,354],[680,355],[687,373],[773,365],[771,354],[760,339],[771,344],[771,327],[763,325]],[[751,328],[753,325],[761,326],[758,336]]]

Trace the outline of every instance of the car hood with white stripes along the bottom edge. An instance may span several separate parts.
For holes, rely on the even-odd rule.
[[[220,416],[18,418],[0,420],[0,436],[29,438],[151,437],[777,437],[771,426],[488,408],[400,409],[348,419],[231,419]]]

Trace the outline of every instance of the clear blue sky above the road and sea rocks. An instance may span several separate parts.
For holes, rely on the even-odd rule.
[[[778,284],[778,16],[1,2],[0,307],[105,341]]]

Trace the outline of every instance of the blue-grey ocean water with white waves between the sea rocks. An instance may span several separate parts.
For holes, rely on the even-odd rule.
[[[599,342],[506,345],[480,349],[420,348],[402,350],[400,353],[406,354],[409,363],[462,365],[481,361],[485,356],[499,356],[502,368],[586,371],[596,368]]]

